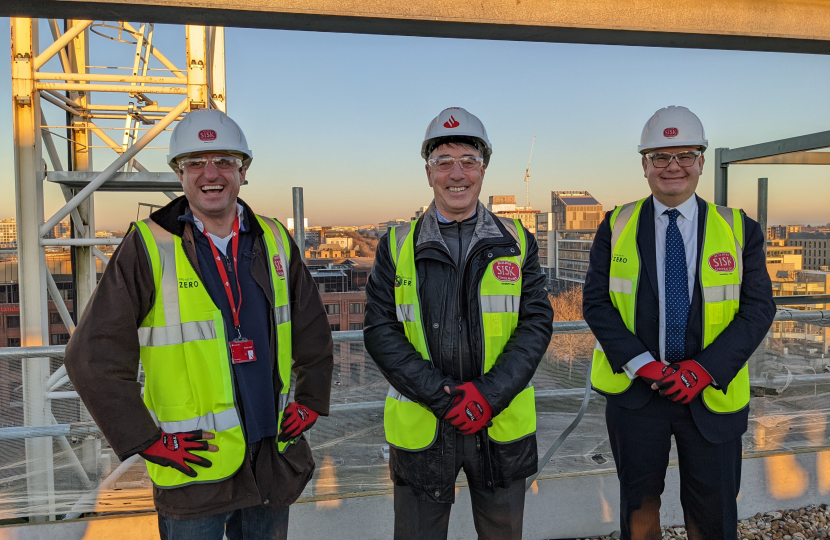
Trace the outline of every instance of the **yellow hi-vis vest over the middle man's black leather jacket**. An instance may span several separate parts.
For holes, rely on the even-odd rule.
[[[519,242],[520,253],[493,259],[481,279],[479,307],[484,334],[485,373],[496,364],[519,324],[526,239],[518,220],[502,222]],[[418,298],[414,245],[416,223],[417,220],[389,230],[389,248],[395,264],[395,310],[406,338],[425,361],[431,362]],[[403,450],[424,450],[435,442],[438,419],[430,409],[407,399],[390,385],[383,411],[383,427],[390,445]],[[488,430],[490,438],[498,443],[513,442],[535,432],[536,402],[532,386],[522,390],[506,409],[493,418],[493,427]]]

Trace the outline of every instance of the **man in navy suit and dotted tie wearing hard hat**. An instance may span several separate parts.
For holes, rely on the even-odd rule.
[[[639,147],[652,194],[608,212],[591,249],[591,382],[607,398],[625,540],[661,538],[672,436],[688,538],[737,534],[747,360],[775,304],[761,228],[695,195],[707,145],[691,111],[657,111]]]

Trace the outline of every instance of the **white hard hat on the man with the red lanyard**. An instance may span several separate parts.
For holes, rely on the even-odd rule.
[[[254,159],[245,134],[227,114],[217,109],[195,109],[173,130],[167,163],[176,170],[180,157],[214,151],[242,154],[243,165],[250,165]]]

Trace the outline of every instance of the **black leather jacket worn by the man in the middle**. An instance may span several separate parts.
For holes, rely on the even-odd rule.
[[[519,326],[497,364],[482,374],[483,336],[478,302],[481,278],[494,257],[515,255],[519,250],[501,221],[481,204],[477,215],[463,269],[457,267],[441,236],[434,204],[415,228],[418,295],[433,363],[425,362],[409,343],[395,315],[395,268],[388,236],[378,245],[374,269],[366,285],[366,349],[392,386],[429,407],[438,418],[444,417],[453,399],[445,393],[444,386],[468,381],[474,382],[495,415],[503,411],[530,382],[552,332],[553,309],[539,266],[536,239],[525,230],[527,254],[522,267]],[[458,340],[465,341],[463,347],[458,346]],[[471,359],[465,362],[456,358],[453,350],[471,351]],[[471,365],[472,373],[462,372],[463,364]],[[392,448],[392,479],[403,481],[424,499],[453,502],[455,434],[456,429],[441,420],[438,437],[430,448],[419,452]],[[481,456],[487,487],[505,487],[536,472],[535,435],[509,444],[486,440],[488,444],[482,445]]]

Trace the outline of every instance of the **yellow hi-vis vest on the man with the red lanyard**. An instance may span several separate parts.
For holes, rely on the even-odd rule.
[[[285,229],[270,218],[256,216],[264,231],[274,288],[278,371],[282,390],[277,425],[288,403],[291,384],[291,309],[289,246]],[[162,430],[177,433],[210,431],[218,452],[195,453],[209,459],[190,478],[172,467],[147,462],[147,472],[160,488],[211,483],[232,476],[245,456],[245,436],[234,397],[233,369],[222,311],[182,248],[182,239],[151,219],[135,224],[153,271],[155,300],[138,328],[144,367],[144,404]],[[260,361],[268,362],[269,359]],[[279,443],[280,452],[286,444]]]

